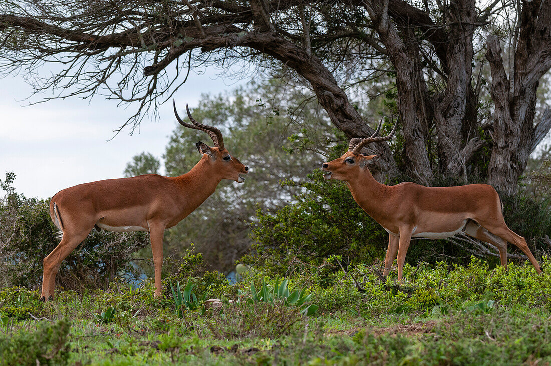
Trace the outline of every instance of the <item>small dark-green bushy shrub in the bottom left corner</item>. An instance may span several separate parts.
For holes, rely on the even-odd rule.
[[[69,357],[67,319],[57,323],[39,323],[35,331],[20,330],[14,335],[0,335],[2,365],[64,365]]]

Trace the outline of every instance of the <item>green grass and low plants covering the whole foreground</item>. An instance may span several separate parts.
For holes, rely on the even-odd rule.
[[[490,269],[479,260],[415,270],[408,267],[399,286],[392,276],[381,283],[367,267],[336,273],[323,288],[312,274],[289,278],[289,291],[306,286],[312,294],[319,306],[312,316],[284,299],[247,301],[251,281],[276,283],[262,274],[218,293],[222,309],[181,314],[169,286],[159,300],[149,282],[59,291],[46,304],[37,291],[3,288],[0,364],[551,363],[547,272],[537,275],[528,264]],[[110,307],[111,320],[97,319]]]

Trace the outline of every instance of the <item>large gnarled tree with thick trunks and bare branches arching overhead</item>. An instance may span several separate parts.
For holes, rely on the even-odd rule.
[[[339,130],[363,137],[373,130],[352,101],[354,86],[391,78],[403,145],[399,165],[387,144],[371,146],[383,155],[381,171],[420,182],[434,172],[464,180],[478,173],[512,194],[551,126],[551,112],[534,124],[534,95],[551,67],[550,20],[548,0],[482,8],[475,0],[427,0],[422,7],[404,0],[8,0],[0,4],[0,57],[4,72],[61,63],[37,91],[73,86],[60,97],[107,92],[135,102],[128,121],[134,127],[192,67],[249,63],[293,70]],[[498,36],[511,40],[509,78]],[[494,105],[481,103],[484,54]],[[482,149],[489,149],[489,164],[477,172]]]

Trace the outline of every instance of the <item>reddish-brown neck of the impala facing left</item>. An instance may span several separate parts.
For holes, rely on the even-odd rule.
[[[346,181],[346,184],[354,200],[371,217],[377,220],[377,216],[384,214],[385,202],[390,198],[390,187],[377,182],[369,169]]]

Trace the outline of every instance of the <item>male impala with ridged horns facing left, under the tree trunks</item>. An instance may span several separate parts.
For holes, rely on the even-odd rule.
[[[396,125],[387,136],[375,137],[381,123],[369,138],[350,140],[348,152],[323,163],[321,170],[326,172],[325,179],[346,182],[356,203],[388,232],[383,275],[390,271],[397,252],[398,281],[402,281],[412,237],[444,239],[459,232],[495,245],[503,266],[507,266],[507,242],[513,243],[528,256],[536,271],[542,272],[525,239],[505,224],[499,195],[491,185],[424,187],[410,182],[392,186],[377,182],[368,164],[376,162],[379,155],[366,156],[360,151],[366,144],[392,138]]]

